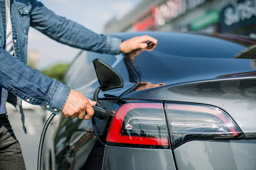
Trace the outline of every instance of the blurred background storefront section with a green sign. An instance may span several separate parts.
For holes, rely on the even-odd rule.
[[[220,13],[218,10],[210,11],[191,22],[191,30],[205,33],[219,32]]]

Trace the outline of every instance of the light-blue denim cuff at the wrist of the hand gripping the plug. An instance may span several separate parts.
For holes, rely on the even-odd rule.
[[[49,95],[46,98],[46,101],[42,104],[42,108],[58,115],[66,104],[70,91],[70,87],[54,79],[49,90]]]

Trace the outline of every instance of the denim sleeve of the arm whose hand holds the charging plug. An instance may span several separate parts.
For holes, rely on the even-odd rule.
[[[30,104],[59,114],[71,89],[0,49],[0,86]]]

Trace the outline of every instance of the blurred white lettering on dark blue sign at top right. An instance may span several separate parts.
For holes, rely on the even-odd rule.
[[[231,5],[223,11],[224,23],[227,26],[256,16],[256,0],[234,2]]]

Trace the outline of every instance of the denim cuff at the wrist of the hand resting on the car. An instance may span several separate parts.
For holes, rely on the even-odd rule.
[[[117,55],[120,53],[121,39],[116,37],[107,36],[107,53],[112,55]]]

